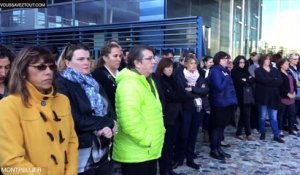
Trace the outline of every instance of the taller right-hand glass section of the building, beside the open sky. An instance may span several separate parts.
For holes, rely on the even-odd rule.
[[[203,18],[208,55],[223,50],[235,57],[257,50],[260,39],[261,0],[166,1],[167,18]]]

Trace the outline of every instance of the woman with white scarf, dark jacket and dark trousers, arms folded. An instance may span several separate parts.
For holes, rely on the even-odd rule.
[[[188,100],[183,103],[183,121],[180,131],[182,142],[181,148],[178,149],[179,152],[175,155],[175,160],[182,165],[186,158],[187,166],[199,169],[201,165],[194,161],[195,144],[201,125],[202,98],[207,96],[208,87],[200,76],[197,60],[192,55],[185,59],[185,68],[178,73],[176,78],[179,87],[185,89],[185,93],[188,94]]]

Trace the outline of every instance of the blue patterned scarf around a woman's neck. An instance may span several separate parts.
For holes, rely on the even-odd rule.
[[[91,74],[83,75],[74,69],[67,67],[62,73],[62,76],[81,85],[91,103],[92,109],[95,111],[96,116],[105,116],[107,114],[107,107],[99,93],[99,84]]]

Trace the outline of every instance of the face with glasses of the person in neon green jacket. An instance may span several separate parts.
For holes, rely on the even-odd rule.
[[[142,55],[143,59],[141,61],[135,60],[135,67],[139,73],[148,77],[152,73],[153,67],[157,62],[150,50],[143,50]]]

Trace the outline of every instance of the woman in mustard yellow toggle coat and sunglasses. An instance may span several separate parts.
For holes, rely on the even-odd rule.
[[[37,174],[77,174],[78,141],[69,100],[57,93],[56,65],[41,47],[22,49],[0,101],[0,164]]]

